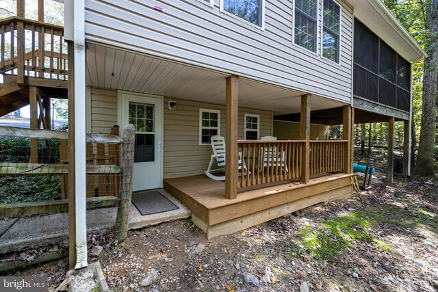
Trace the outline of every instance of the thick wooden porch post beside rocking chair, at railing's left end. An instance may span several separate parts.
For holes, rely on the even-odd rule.
[[[226,129],[225,129],[225,197],[228,199],[237,198],[238,183],[238,160],[237,153],[237,122],[238,122],[238,97],[239,77],[231,75],[226,81]]]

